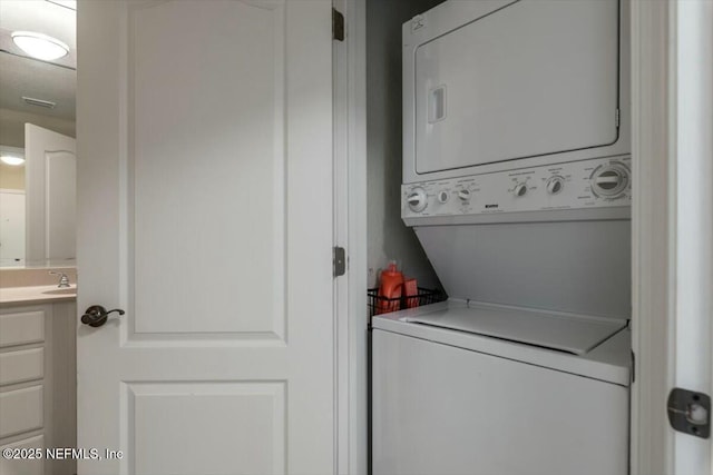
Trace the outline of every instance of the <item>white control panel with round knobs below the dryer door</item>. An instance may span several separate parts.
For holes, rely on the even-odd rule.
[[[403,218],[628,207],[631,157],[402,185]]]

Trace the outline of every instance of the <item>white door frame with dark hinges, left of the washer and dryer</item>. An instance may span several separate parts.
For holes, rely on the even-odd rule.
[[[335,473],[367,474],[367,2],[332,6],[346,32],[333,42],[334,246],[346,249],[334,280]]]

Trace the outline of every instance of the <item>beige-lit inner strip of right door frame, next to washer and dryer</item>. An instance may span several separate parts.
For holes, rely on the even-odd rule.
[[[668,2],[632,2],[632,474],[672,473],[675,115]],[[666,370],[661,370],[666,368]]]

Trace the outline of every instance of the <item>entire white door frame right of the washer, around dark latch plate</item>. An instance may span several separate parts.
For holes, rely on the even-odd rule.
[[[711,472],[711,441],[674,432],[666,399],[713,389],[712,22],[704,1],[632,1],[632,474]]]

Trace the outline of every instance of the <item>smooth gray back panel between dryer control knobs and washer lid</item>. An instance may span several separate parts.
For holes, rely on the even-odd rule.
[[[629,318],[631,225],[423,226],[417,234],[451,298]]]

